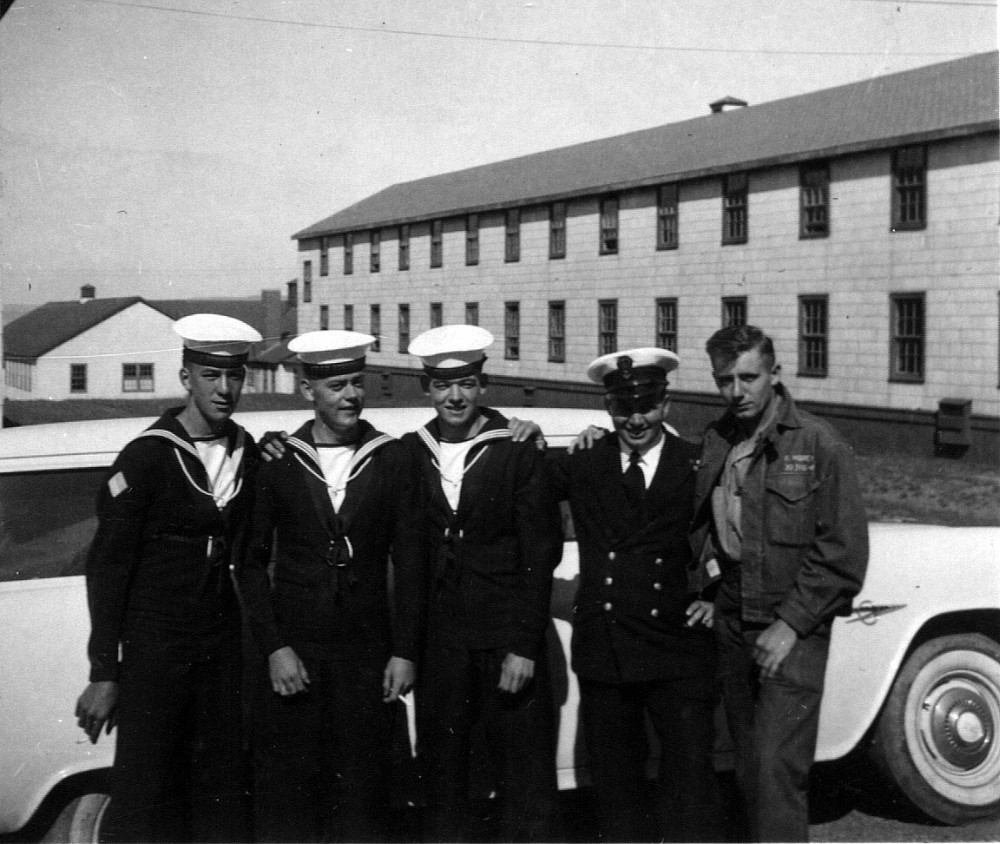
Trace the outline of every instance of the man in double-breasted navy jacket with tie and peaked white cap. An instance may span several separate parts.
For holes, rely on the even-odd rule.
[[[572,660],[608,841],[725,836],[711,761],[711,604],[698,600],[687,540],[698,448],[664,426],[667,373],[677,365],[656,348],[595,360],[587,374],[604,385],[616,434],[548,466],[580,549]],[[647,716],[661,748],[652,793]]]

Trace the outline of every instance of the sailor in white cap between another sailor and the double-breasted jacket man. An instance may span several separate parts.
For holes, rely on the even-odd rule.
[[[546,506],[544,455],[515,442],[480,401],[492,335],[446,325],[409,347],[436,417],[403,437],[427,540],[428,645],[417,688],[418,741],[432,803],[428,840],[468,841],[470,734],[482,719],[496,762],[500,836],[551,840],[556,793],[545,655],[552,571],[562,551]]]

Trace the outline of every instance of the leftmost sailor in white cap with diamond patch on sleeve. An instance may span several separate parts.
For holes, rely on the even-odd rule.
[[[232,565],[257,450],[230,418],[250,343],[239,320],[179,320],[183,407],[118,455],[87,558],[91,741],[118,728],[105,837],[246,839],[240,615]],[[121,651],[119,659],[119,649]]]

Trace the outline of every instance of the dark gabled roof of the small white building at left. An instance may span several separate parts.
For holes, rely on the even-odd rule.
[[[4,327],[4,357],[29,360],[39,358],[138,303],[149,305],[164,313],[164,316],[174,318],[141,296],[88,299],[84,302],[47,302]]]

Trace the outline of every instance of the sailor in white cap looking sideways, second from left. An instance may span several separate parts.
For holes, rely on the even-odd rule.
[[[405,718],[398,698],[414,682],[425,578],[404,450],[360,418],[374,340],[315,331],[289,343],[315,413],[257,478],[241,582],[271,686],[261,841],[385,837],[390,719]]]

